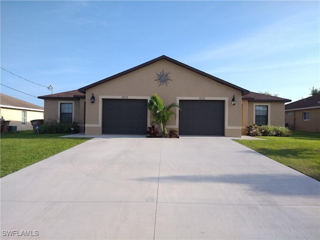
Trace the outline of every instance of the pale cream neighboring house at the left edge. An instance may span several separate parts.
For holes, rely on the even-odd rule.
[[[43,119],[44,108],[0,93],[0,116],[16,130],[31,130],[30,120]]]

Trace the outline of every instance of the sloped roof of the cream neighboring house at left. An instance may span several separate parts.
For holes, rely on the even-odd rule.
[[[25,109],[25,110],[35,110],[43,111],[42,106],[38,106],[27,101],[23,101],[12,96],[5,95],[0,93],[0,106],[5,108],[14,108],[14,109]]]

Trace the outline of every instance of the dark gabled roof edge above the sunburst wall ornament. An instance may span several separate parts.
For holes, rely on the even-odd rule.
[[[97,82],[94,82],[94,83],[92,83],[92,84],[89,84],[89,85],[87,85],[87,86],[81,87],[81,88],[78,89],[78,91],[85,93],[85,90],[88,89],[88,88],[91,88],[91,87],[96,86],[96,85],[99,85],[99,84],[101,84],[101,83],[103,83],[103,82],[112,80],[112,79],[117,78],[117,77],[119,77],[119,76],[125,75],[125,74],[127,74],[127,73],[129,73],[129,72],[135,71],[135,70],[137,70],[137,69],[140,69],[140,68],[142,68],[142,67],[144,67],[144,66],[150,65],[150,64],[152,64],[152,63],[154,63],[154,62],[157,62],[157,61],[159,61],[159,60],[162,60],[162,59],[165,59],[165,60],[167,60],[167,61],[170,61],[170,62],[172,62],[172,63],[174,63],[174,64],[176,64],[176,65],[179,65],[179,66],[181,66],[181,67],[184,67],[184,68],[186,68],[186,69],[188,69],[188,70],[194,71],[194,72],[196,72],[196,73],[198,73],[198,74],[200,74],[200,75],[206,76],[206,77],[208,77],[208,78],[210,78],[210,79],[212,79],[212,80],[215,80],[215,81],[217,81],[217,82],[219,82],[219,83],[221,83],[221,84],[223,84],[223,85],[226,85],[226,86],[232,87],[232,88],[234,88],[234,89],[237,89],[237,90],[239,90],[239,91],[242,92],[242,95],[249,93],[249,91],[246,90],[246,89],[244,89],[244,88],[241,88],[241,87],[236,86],[236,85],[234,85],[234,84],[232,84],[232,83],[230,83],[230,82],[224,81],[224,80],[222,80],[222,79],[220,79],[220,78],[218,78],[218,77],[215,77],[215,76],[212,76],[212,75],[210,75],[210,74],[208,74],[208,73],[205,73],[205,72],[203,72],[203,71],[200,71],[200,70],[198,70],[198,69],[196,69],[196,68],[194,68],[194,67],[191,67],[191,66],[189,66],[189,65],[186,65],[186,64],[184,64],[184,63],[182,63],[182,62],[179,62],[179,61],[177,61],[177,60],[174,60],[174,59],[172,59],[172,58],[170,58],[170,57],[168,57],[168,56],[165,56],[165,55],[159,56],[159,57],[154,58],[154,59],[152,59],[152,60],[150,60],[150,61],[144,62],[144,63],[142,63],[142,64],[140,64],[140,65],[137,65],[137,66],[135,66],[135,67],[132,67],[132,68],[130,68],[130,69],[127,69],[127,70],[125,70],[125,71],[122,71],[122,72],[120,72],[120,73],[117,73],[117,74],[115,74],[115,75],[113,75],[113,76],[109,76],[109,77],[107,77],[107,78],[104,78],[104,79],[102,79],[102,80],[99,80],[99,81],[97,81]]]

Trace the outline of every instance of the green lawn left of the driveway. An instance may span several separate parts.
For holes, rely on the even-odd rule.
[[[90,139],[59,137],[63,135],[67,134],[35,134],[32,130],[1,133],[0,177]]]

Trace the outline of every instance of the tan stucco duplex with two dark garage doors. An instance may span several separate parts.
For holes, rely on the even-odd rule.
[[[145,134],[152,123],[146,103],[154,93],[179,104],[167,127],[180,135],[239,137],[252,122],[284,125],[284,102],[290,101],[250,93],[164,55],[78,90],[38,98],[44,99],[45,121],[75,120],[88,135]]]

